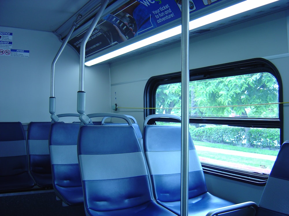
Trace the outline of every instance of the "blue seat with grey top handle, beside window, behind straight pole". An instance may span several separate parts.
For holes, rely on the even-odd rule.
[[[147,125],[153,118],[175,115],[150,115],[144,121],[143,144],[156,201],[180,215],[181,209],[181,127]],[[204,216],[212,209],[232,205],[210,194],[193,141],[189,136],[188,214]]]

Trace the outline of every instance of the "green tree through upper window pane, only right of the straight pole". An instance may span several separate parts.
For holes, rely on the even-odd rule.
[[[278,84],[269,73],[255,73],[192,82],[198,109],[205,116],[268,118],[278,116],[278,105],[250,105],[278,102]],[[242,105],[242,106],[240,106]],[[248,106],[243,106],[248,105]]]

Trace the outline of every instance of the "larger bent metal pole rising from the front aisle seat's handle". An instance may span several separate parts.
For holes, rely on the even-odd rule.
[[[95,15],[92,23],[90,24],[89,28],[87,29],[84,38],[82,39],[81,46],[80,46],[80,63],[79,63],[79,91],[77,92],[77,112],[79,115],[79,120],[84,124],[88,124],[90,119],[84,114],[85,112],[85,91],[84,91],[84,60],[85,60],[85,46],[86,43],[95,28],[99,18],[103,14],[105,7],[108,5],[109,0],[103,0],[99,11]]]

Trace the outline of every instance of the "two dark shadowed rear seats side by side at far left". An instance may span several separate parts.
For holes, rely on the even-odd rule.
[[[52,187],[48,137],[51,122],[0,122],[0,191]]]

